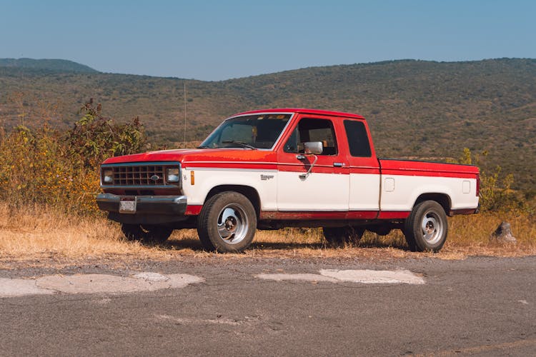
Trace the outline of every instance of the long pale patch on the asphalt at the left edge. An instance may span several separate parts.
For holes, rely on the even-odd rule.
[[[132,277],[105,274],[53,275],[36,280],[0,278],[0,297],[51,293],[134,293],[184,288],[204,278],[188,274],[138,273]]]

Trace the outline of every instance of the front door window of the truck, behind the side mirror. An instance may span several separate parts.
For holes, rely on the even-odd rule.
[[[332,121],[327,119],[302,119],[284,145],[284,152],[303,153],[307,141],[322,142],[322,155],[337,155],[337,140]]]

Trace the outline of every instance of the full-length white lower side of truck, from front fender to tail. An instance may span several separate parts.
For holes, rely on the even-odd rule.
[[[424,193],[449,196],[453,210],[478,206],[475,178],[312,173],[303,179],[298,172],[276,170],[183,170],[183,190],[190,205],[202,205],[209,191],[221,185],[254,188],[262,211],[378,211],[380,207],[382,211],[411,211]]]

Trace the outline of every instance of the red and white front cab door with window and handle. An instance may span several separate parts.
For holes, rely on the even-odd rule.
[[[348,211],[349,169],[339,146],[337,120],[300,114],[277,153],[278,211]],[[322,142],[322,154],[304,153],[304,143]],[[337,216],[337,213],[335,214]],[[319,217],[322,218],[322,217]]]

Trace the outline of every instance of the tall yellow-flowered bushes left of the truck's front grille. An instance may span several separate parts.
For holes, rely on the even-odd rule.
[[[89,101],[71,129],[49,125],[44,111],[36,129],[20,124],[0,131],[0,200],[10,209],[41,205],[82,216],[96,214],[99,164],[110,156],[147,149],[144,127],[134,118],[116,124]]]

